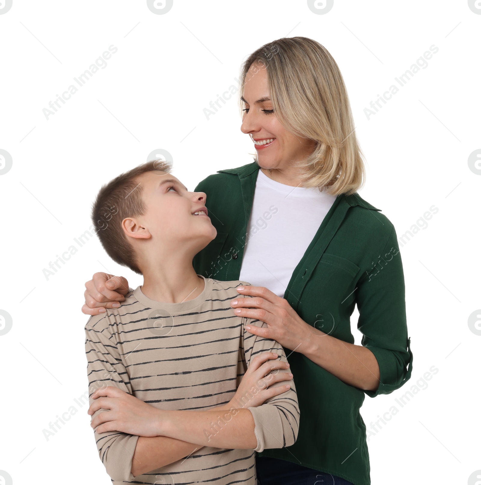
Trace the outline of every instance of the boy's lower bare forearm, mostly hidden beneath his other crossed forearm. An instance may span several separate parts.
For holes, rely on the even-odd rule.
[[[230,404],[224,404],[211,409],[219,413],[230,409]],[[199,411],[207,412],[207,411]],[[149,471],[165,467],[202,448],[190,441],[182,441],[170,436],[139,436],[133,453],[131,473],[134,477]]]

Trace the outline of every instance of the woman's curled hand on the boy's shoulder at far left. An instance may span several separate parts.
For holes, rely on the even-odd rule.
[[[123,276],[96,273],[90,281],[85,283],[85,304],[82,313],[98,315],[105,312],[105,308],[118,308],[129,292],[129,283]]]

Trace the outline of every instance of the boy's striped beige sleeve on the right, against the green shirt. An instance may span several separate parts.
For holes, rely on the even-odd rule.
[[[287,362],[282,345],[276,340],[265,339],[249,333],[245,326],[255,325],[266,327],[266,323],[259,320],[243,318],[243,348],[246,364],[249,367],[253,357],[264,352],[275,352],[278,359]],[[291,372],[290,369],[280,369],[279,372]],[[296,442],[299,432],[299,403],[294,380],[276,382],[269,387],[279,387],[289,384],[287,391],[267,399],[257,407],[248,407],[254,418],[254,433],[257,438],[256,452],[265,449],[283,448]]]

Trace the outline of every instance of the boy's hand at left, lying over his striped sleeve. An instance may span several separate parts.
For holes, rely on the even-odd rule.
[[[99,413],[90,423],[92,428],[98,426],[98,433],[120,431],[136,436],[158,436],[160,409],[113,386],[97,389],[92,398],[95,401],[88,408],[88,414],[93,415],[101,408],[110,409]]]

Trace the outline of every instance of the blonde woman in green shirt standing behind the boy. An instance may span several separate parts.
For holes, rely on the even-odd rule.
[[[391,222],[356,191],[364,165],[348,95],[329,52],[283,38],[249,56],[241,76],[241,130],[255,162],[220,170],[207,194],[216,239],[194,259],[198,274],[249,281],[241,316],[267,323],[251,333],[279,341],[299,398],[289,448],[257,457],[262,485],[370,484],[365,394],[387,394],[411,376],[404,276]],[[83,312],[123,300],[125,278],[96,273]],[[349,317],[358,306],[362,345]],[[407,369],[406,369],[407,367]]]

